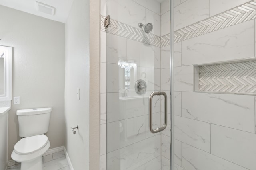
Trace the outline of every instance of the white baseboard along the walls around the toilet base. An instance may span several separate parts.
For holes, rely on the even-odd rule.
[[[42,156],[46,156],[48,154],[53,154],[53,153],[56,153],[56,152],[60,152],[62,150],[64,151],[64,154],[65,154],[66,159],[68,161],[68,166],[69,166],[70,170],[74,170],[74,168],[72,166],[72,163],[70,161],[70,158],[68,156],[68,152],[67,152],[67,150],[66,150],[66,148],[64,146],[48,149]],[[16,165],[16,164],[20,164],[20,162],[16,162],[15,160],[12,160],[12,159],[8,160],[8,167]],[[7,170],[7,168],[6,168],[6,170]]]

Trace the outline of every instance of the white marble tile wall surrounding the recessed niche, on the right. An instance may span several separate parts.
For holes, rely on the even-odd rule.
[[[240,9],[239,18],[247,8],[244,3],[256,4],[249,0],[178,1],[174,27],[188,28],[234,8]],[[248,11],[253,16],[254,6]],[[256,57],[255,18],[246,17],[241,23],[234,19],[222,29],[195,33],[174,44],[175,170],[255,170],[256,96],[194,92],[194,64]]]

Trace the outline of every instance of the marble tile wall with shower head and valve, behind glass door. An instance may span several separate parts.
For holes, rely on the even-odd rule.
[[[165,3],[168,4],[168,1]],[[148,96],[153,91],[161,90],[162,85],[168,90],[170,84],[166,63],[166,77],[161,81],[161,52],[168,58],[169,51],[168,47],[161,49],[160,23],[163,21],[168,25],[167,12],[168,8],[161,10],[156,0],[101,1],[101,16],[110,15],[113,22],[101,31],[100,170],[161,170],[161,153],[168,157],[168,131],[161,137],[161,133],[152,134],[148,128]],[[153,24],[150,36],[141,31],[139,22]],[[133,31],[139,36],[136,37]],[[164,31],[168,34],[168,29]],[[118,66],[120,61],[136,64],[131,73],[131,89],[124,90],[124,71]],[[132,90],[138,79],[147,84],[143,95]],[[153,98],[153,128],[161,126],[161,101],[160,96]],[[162,150],[162,147],[165,149]],[[169,164],[167,160],[165,167]]]

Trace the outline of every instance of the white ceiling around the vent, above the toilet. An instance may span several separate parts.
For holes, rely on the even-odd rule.
[[[36,9],[36,1],[55,8],[55,15],[45,14]],[[50,20],[66,22],[73,0],[0,0],[0,5],[28,12]]]

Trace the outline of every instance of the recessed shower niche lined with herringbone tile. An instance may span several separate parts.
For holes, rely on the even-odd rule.
[[[256,57],[194,65],[194,91],[256,95]]]

